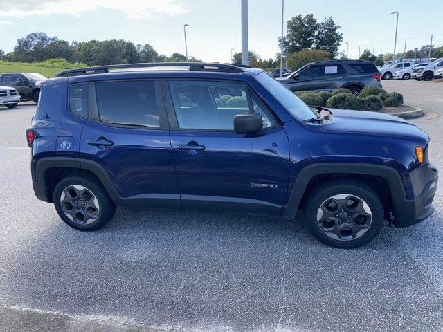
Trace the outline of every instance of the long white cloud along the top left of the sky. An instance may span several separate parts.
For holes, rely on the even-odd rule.
[[[180,15],[187,10],[177,0],[21,0],[8,1],[0,7],[0,17],[71,14],[107,8],[120,10],[130,19],[154,15]]]

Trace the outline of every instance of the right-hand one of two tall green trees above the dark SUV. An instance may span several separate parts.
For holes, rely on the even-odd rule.
[[[314,47],[317,50],[325,50],[330,58],[334,58],[338,53],[338,47],[343,40],[343,34],[338,32],[341,26],[337,26],[332,16],[325,18],[320,23],[314,40]]]

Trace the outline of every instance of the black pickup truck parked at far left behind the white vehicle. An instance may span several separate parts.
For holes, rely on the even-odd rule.
[[[0,75],[0,85],[12,86],[19,91],[21,100],[34,100],[37,104],[40,86],[47,80],[38,73],[3,73]]]

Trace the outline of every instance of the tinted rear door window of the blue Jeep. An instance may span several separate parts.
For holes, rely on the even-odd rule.
[[[98,118],[109,124],[160,127],[153,80],[96,83]]]

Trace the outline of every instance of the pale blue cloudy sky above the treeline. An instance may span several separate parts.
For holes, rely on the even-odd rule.
[[[240,0],[0,0],[0,49],[13,50],[17,39],[44,32],[69,42],[91,39],[125,39],[150,44],[159,54],[185,54],[206,62],[230,62],[241,50]],[[431,12],[442,13],[443,1]],[[319,21],[332,16],[341,26],[340,51],[356,58],[360,46],[375,53],[392,53],[399,11],[397,52],[430,43],[443,46],[443,19],[418,12],[412,1],[284,0],[284,22],[296,15],[314,14]],[[249,49],[262,59],[279,52],[282,0],[248,0]],[[286,28],[285,28],[286,29]]]

